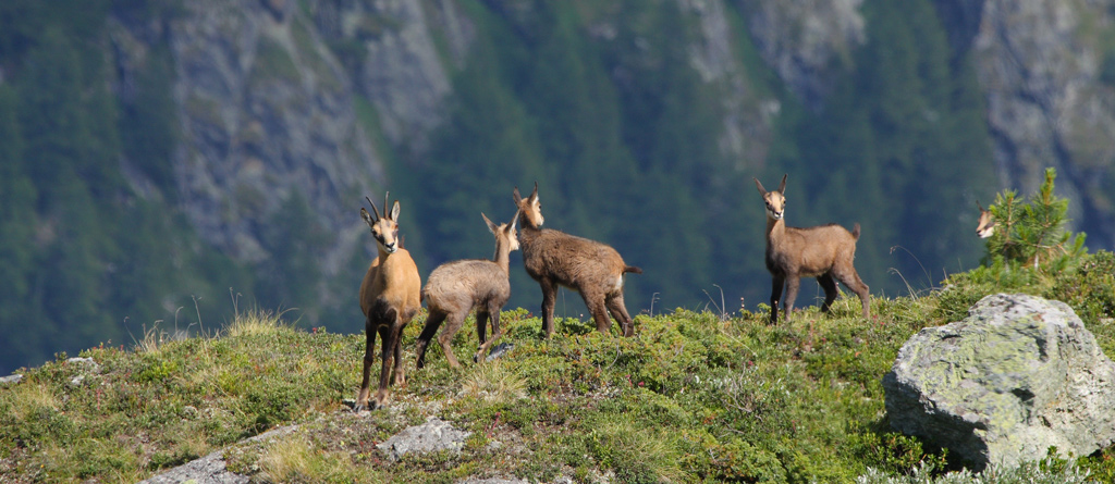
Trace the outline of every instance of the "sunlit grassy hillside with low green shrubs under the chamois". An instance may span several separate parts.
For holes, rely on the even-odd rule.
[[[515,348],[459,371],[436,347],[427,367],[414,369],[419,315],[404,340],[408,385],[395,388],[387,409],[359,415],[342,401],[359,384],[361,335],[298,329],[261,312],[203,328],[207,337],[173,340],[169,328],[153,328],[130,348],[81,352],[96,366],[59,355],[0,387],[0,481],[135,482],[297,423],[280,439],[230,452],[231,468],[272,482],[804,483],[869,472],[866,482],[930,482],[904,475],[921,461],[938,470],[960,463],[890,431],[880,379],[898,349],[920,328],[1010,290],[1067,302],[1115,354],[1115,255],[1084,256],[1075,267],[977,269],[946,289],[875,298],[871,320],[854,297],[842,297],[832,316],[812,306],[777,326],[766,325],[765,307],[678,309],[638,316],[633,338],[566,318],[541,340],[540,319],[511,310],[504,342]],[[454,345],[468,354],[474,330]],[[392,463],[375,448],[429,416],[472,432],[460,454]],[[1111,480],[1113,455],[1050,461],[991,482],[1064,482],[1079,467]]]

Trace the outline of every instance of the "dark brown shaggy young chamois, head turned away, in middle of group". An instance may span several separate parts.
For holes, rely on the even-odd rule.
[[[623,274],[642,274],[628,266],[615,249],[586,238],[543,229],[539,184],[530,197],[512,194],[518,207],[522,229],[518,240],[523,248],[526,274],[542,286],[542,330],[545,337],[554,332],[554,302],[558,286],[581,293],[584,305],[597,322],[597,330],[607,332],[612,325],[608,313],[620,323],[623,336],[634,335],[634,322],[623,306]]]

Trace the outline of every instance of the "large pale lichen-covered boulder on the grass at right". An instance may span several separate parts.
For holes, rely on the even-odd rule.
[[[1115,363],[1059,302],[985,297],[967,319],[910,338],[883,388],[894,429],[978,468],[1115,442]]]

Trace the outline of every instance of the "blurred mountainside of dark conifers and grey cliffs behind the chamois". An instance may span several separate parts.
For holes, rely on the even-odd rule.
[[[1111,249],[1113,20],[1115,0],[6,0],[0,373],[248,307],[360,332],[358,213],[385,190],[425,278],[491,257],[479,214],[537,181],[547,227],[644,269],[632,314],[768,299],[752,177],[789,175],[789,225],[860,223],[879,295],[976,266],[976,200],[1047,166]],[[537,310],[517,255],[512,288]]]

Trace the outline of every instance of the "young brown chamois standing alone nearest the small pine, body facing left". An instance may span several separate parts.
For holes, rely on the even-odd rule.
[[[852,260],[855,258],[855,241],[860,239],[860,224],[852,231],[836,224],[817,227],[786,227],[783,216],[786,209],[786,176],[777,191],[767,191],[755,178],[767,214],[766,265],[773,276],[770,290],[770,324],[778,322],[778,299],[783,284],[786,285],[786,317],[794,310],[797,287],[802,277],[816,277],[825,290],[825,303],[821,310],[827,313],[840,293],[836,280],[852,289],[863,303],[863,317],[870,318],[871,295],[867,285],[860,280]],[[835,280],[834,280],[835,279]]]

